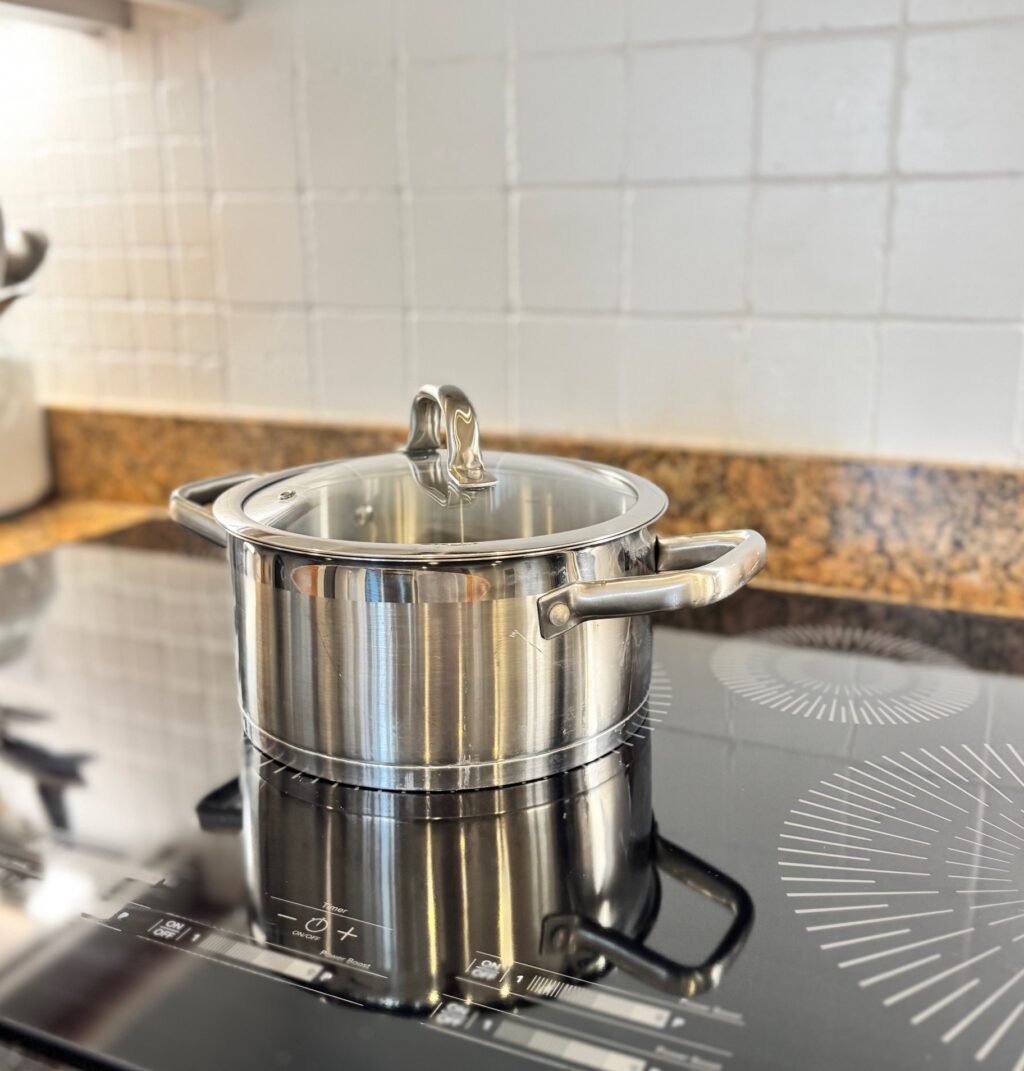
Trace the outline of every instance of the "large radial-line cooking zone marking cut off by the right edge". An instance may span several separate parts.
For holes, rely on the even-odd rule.
[[[783,827],[786,897],[837,968],[973,1061],[1024,1071],[1021,751],[858,761],[803,793]]]

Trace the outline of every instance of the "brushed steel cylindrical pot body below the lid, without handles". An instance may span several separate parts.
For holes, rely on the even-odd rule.
[[[506,785],[590,761],[643,721],[650,618],[544,637],[538,600],[654,573],[648,529],[452,564],[228,545],[245,730],[297,769],[375,788]]]

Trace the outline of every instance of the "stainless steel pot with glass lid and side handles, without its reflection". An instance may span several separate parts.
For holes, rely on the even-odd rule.
[[[417,394],[404,452],[170,498],[228,548],[250,738],[308,773],[421,790],[544,776],[634,731],[649,615],[718,602],[765,560],[753,531],[656,538],[666,507],[604,465],[481,454],[453,387]]]

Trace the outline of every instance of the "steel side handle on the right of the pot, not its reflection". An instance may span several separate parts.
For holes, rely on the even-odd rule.
[[[582,621],[708,606],[738,591],[764,568],[759,532],[738,528],[658,540],[658,571],[614,580],[577,580],[537,601],[541,635],[560,636]]]

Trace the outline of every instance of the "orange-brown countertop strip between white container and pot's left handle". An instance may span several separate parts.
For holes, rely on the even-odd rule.
[[[166,513],[163,506],[138,502],[50,499],[26,513],[0,519],[0,563],[40,554],[59,543],[103,536]]]

